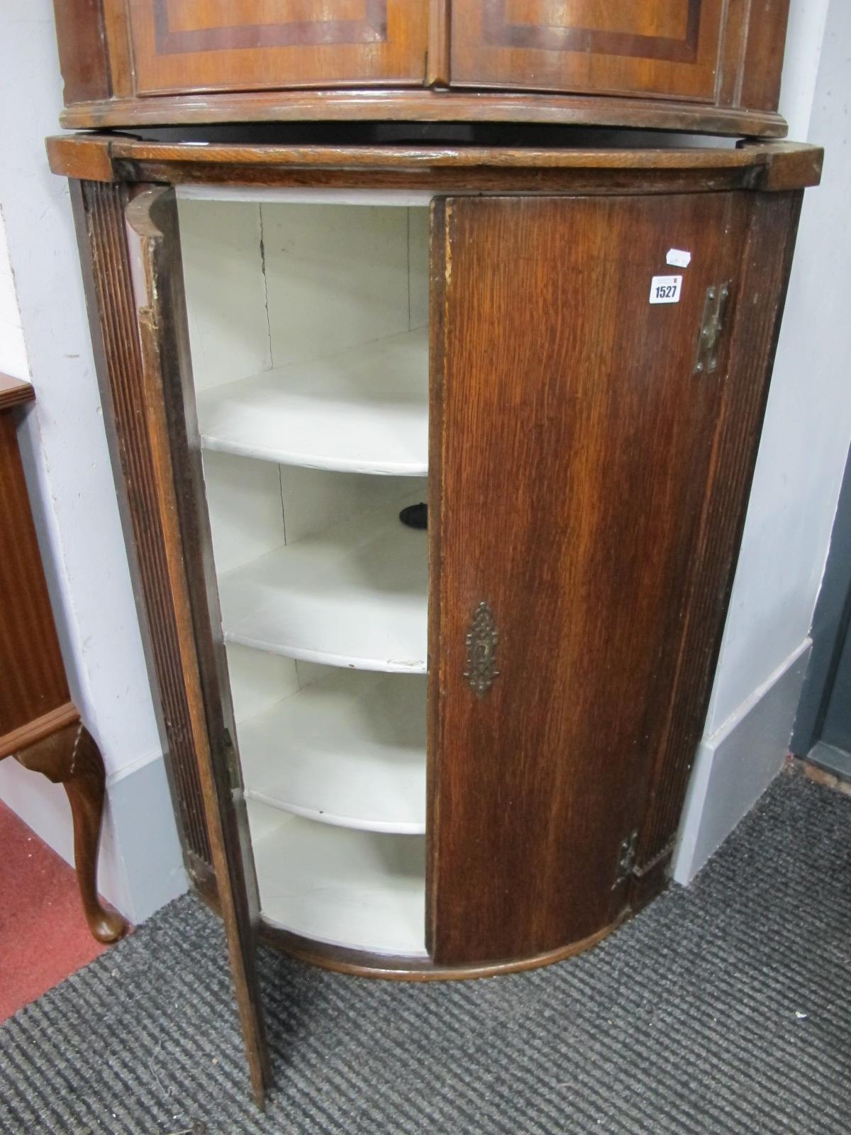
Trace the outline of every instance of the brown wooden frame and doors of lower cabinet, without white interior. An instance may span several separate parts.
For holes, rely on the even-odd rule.
[[[479,976],[590,945],[665,885],[800,187],[817,184],[821,151],[86,136],[49,152],[86,178],[73,195],[95,354],[186,857],[225,917],[262,1099],[261,933],[346,973]],[[448,194],[432,203],[430,964],[260,922],[228,756],[175,195],[150,179]],[[669,247],[692,254],[681,301],[649,305],[652,276],[675,271]],[[727,281],[718,371],[696,376],[707,289]],[[474,647],[482,603],[498,673],[477,691],[467,636]]]

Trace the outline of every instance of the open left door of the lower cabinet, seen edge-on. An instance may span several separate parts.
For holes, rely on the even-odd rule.
[[[89,185],[91,183],[87,183]],[[115,194],[112,186],[96,186],[98,196]],[[120,192],[120,191],[119,191]],[[107,197],[107,201],[109,199]],[[115,207],[115,199],[113,199]],[[93,234],[112,210],[106,202],[92,202]],[[100,215],[100,217],[98,217]],[[115,215],[113,215],[115,216]],[[113,276],[119,280],[115,295],[100,296],[100,309],[111,330],[129,331],[125,346],[136,370],[137,401],[118,411],[141,419],[150,446],[150,479],[140,464],[129,464],[134,510],[144,516],[140,552],[150,562],[145,569],[145,600],[149,612],[165,619],[154,632],[160,687],[176,679],[185,698],[189,746],[195,757],[204,826],[209,833],[216,891],[230,957],[237,1008],[256,1102],[262,1107],[271,1084],[271,1068],[256,972],[260,922],[256,874],[251,849],[243,785],[230,739],[236,735],[227,684],[225,647],[213,632],[218,611],[212,568],[212,541],[201,469],[201,439],[194,414],[194,384],[186,323],[177,199],[165,186],[143,188],[126,205],[126,261],[117,259],[119,234],[103,226],[103,242],[113,258]],[[123,235],[123,234],[121,234]],[[95,245],[103,257],[103,247]],[[119,306],[133,288],[135,325],[130,312]],[[110,318],[111,317],[111,318]],[[133,345],[133,331],[138,343]],[[113,345],[115,348],[115,345]],[[138,356],[134,358],[138,351]],[[108,359],[108,363],[111,362]],[[134,365],[135,364],[135,365]],[[127,377],[125,377],[125,381]],[[117,393],[117,392],[116,392]],[[141,520],[142,518],[137,518]],[[138,540],[138,538],[137,538]],[[161,544],[161,547],[158,545]],[[154,552],[155,549],[155,552]],[[151,592],[157,590],[154,597]],[[162,596],[168,596],[165,609]],[[170,605],[170,609],[169,609]],[[212,608],[212,609],[211,609]],[[153,628],[152,628],[153,630]],[[170,658],[163,657],[166,651]],[[177,673],[175,674],[175,670]],[[171,671],[171,673],[168,673]],[[176,723],[171,722],[174,729]]]

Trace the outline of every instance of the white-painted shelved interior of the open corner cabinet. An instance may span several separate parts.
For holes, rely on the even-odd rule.
[[[428,211],[326,197],[179,200],[222,633],[266,918],[423,953]]]

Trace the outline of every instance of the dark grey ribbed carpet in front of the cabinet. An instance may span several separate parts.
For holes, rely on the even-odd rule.
[[[391,984],[264,952],[264,1118],[219,925],[179,899],[0,1028],[0,1130],[848,1135],[850,835],[848,797],[783,775],[693,888],[531,974]]]

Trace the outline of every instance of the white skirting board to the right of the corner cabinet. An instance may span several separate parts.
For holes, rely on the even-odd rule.
[[[688,885],[783,767],[810,639],[698,747],[685,798],[673,875]]]

